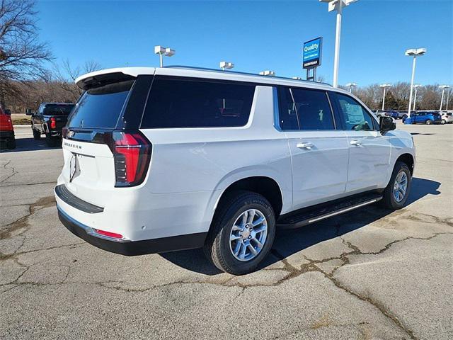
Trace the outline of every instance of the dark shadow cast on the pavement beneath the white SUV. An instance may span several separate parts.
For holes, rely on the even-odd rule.
[[[427,195],[439,195],[440,191],[437,190],[439,186],[440,183],[436,181],[413,178],[407,204],[414,203]],[[273,249],[261,263],[259,269],[270,266],[315,244],[341,237],[343,234],[365,227],[386,217],[391,212],[393,210],[387,210],[379,204],[374,204],[299,229],[277,229]],[[161,254],[161,256],[189,271],[211,276],[221,273],[219,269],[207,261],[202,249],[173,251]]]

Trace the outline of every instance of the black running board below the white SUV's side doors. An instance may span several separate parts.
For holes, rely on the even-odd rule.
[[[300,209],[280,216],[277,220],[277,227],[285,229],[303,227],[304,225],[319,222],[328,217],[365,207],[365,205],[379,202],[379,200],[382,200],[382,194],[372,193],[315,205],[314,207]]]

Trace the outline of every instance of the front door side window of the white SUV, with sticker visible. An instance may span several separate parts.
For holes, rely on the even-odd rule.
[[[340,110],[346,123],[346,130],[369,131],[374,130],[373,118],[360,103],[350,96],[337,94]]]

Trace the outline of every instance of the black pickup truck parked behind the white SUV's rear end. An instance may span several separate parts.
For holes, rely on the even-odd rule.
[[[42,103],[37,113],[27,111],[27,115],[31,115],[33,138],[39,140],[45,135],[47,146],[55,147],[62,139],[62,129],[74,106],[74,103]]]

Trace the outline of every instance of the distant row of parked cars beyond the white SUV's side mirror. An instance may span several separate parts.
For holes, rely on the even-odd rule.
[[[401,119],[405,124],[447,124],[453,123],[453,113],[448,111],[414,111],[408,118],[408,111],[374,110],[377,117],[388,116]]]

